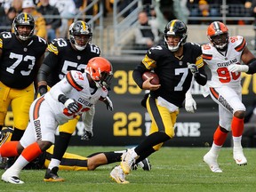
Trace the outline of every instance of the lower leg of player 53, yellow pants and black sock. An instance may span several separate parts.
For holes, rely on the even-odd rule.
[[[79,120],[79,116],[76,119],[69,120],[68,123],[62,124],[59,127],[60,135],[56,137],[53,149],[53,155],[48,169],[44,175],[44,181],[63,181],[58,175],[59,166],[62,156],[64,156],[69,140],[71,139],[72,133],[76,130],[76,124]]]

